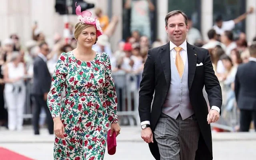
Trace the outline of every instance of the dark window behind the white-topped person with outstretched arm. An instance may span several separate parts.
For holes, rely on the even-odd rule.
[[[245,0],[213,0],[213,20],[218,15],[222,16],[223,21],[234,20],[238,16],[244,14],[246,4]],[[236,24],[234,32],[245,32],[245,20]]]

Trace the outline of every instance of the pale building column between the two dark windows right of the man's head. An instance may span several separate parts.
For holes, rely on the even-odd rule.
[[[207,41],[207,32],[213,26],[213,0],[202,0],[201,6],[201,33],[203,40]]]

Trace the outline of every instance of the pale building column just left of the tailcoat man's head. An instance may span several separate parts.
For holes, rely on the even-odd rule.
[[[157,1],[157,38],[162,40],[164,44],[167,42],[167,33],[165,31],[164,18],[168,13],[168,0]]]

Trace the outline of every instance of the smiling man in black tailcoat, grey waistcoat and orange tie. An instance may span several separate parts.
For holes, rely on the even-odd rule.
[[[141,137],[156,160],[212,160],[209,124],[219,119],[222,94],[209,52],[186,42],[188,20],[180,10],[165,24],[170,42],[148,50],[140,83]]]

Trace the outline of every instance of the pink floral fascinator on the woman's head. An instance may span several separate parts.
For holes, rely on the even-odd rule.
[[[76,5],[76,4],[75,4]],[[90,11],[84,10],[81,12],[81,6],[76,6],[76,15],[78,16],[78,20],[82,24],[91,24],[96,28],[96,36],[102,35],[102,29],[100,27],[100,21],[96,18],[92,18],[92,13]]]

